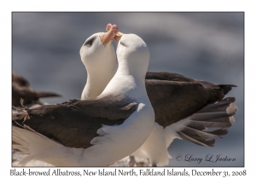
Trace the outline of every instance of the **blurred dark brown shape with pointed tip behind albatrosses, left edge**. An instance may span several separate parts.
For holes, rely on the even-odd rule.
[[[12,72],[12,104],[20,106],[20,98],[24,99],[24,104],[31,104],[41,97],[61,96],[52,92],[41,92],[32,89],[29,82],[20,75]]]

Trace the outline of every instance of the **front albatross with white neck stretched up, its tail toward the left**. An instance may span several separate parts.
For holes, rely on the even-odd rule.
[[[134,34],[120,42],[119,68],[98,97],[17,108],[13,148],[30,154],[21,164],[38,159],[55,166],[108,166],[143,145],[154,127],[144,83],[149,51]]]

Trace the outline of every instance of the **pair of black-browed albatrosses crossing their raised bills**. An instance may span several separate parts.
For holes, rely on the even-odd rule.
[[[131,153],[166,165],[174,138],[212,146],[214,136],[234,123],[235,99],[223,99],[233,85],[165,72],[146,75],[149,51],[143,39],[108,28],[80,50],[88,72],[82,101],[18,108],[13,115],[13,148],[30,153],[21,165],[38,159],[55,166],[107,166]],[[113,38],[119,41],[119,65]]]

